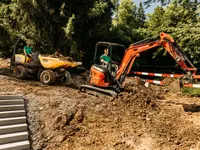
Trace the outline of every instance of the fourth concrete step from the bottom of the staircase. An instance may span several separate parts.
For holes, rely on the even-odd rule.
[[[26,123],[26,117],[12,117],[0,119],[0,126]]]

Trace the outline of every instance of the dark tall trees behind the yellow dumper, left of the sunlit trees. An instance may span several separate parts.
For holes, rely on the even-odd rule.
[[[108,36],[113,9],[110,0],[3,0],[0,31],[5,30],[10,40],[1,41],[1,52],[20,36],[22,40],[30,39],[34,49],[42,53],[61,48],[79,57],[80,51],[88,53],[94,47],[97,38]],[[4,35],[0,36],[3,39]]]

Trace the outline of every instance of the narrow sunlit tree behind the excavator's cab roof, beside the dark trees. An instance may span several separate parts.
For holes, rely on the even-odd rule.
[[[140,27],[137,18],[137,7],[132,0],[121,0],[112,22],[112,41],[130,45],[137,41],[137,29]]]

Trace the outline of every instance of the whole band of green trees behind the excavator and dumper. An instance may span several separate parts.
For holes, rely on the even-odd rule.
[[[154,2],[161,6],[146,15],[145,7]],[[60,49],[88,66],[98,41],[128,47],[160,32],[171,34],[188,57],[200,64],[198,0],[146,0],[138,6],[132,0],[0,1],[1,57],[12,55],[11,46],[20,37],[23,44],[29,40],[34,51]],[[159,61],[162,55],[164,51],[158,50],[143,60],[153,57]]]

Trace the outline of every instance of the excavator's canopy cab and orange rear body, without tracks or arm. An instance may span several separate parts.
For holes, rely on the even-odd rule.
[[[105,48],[109,51],[107,57],[111,59],[107,65],[101,63],[101,56],[104,55]],[[95,46],[93,65],[90,73],[90,83],[92,85],[107,87],[110,82],[114,82],[124,52],[124,45],[110,42],[98,42]]]

